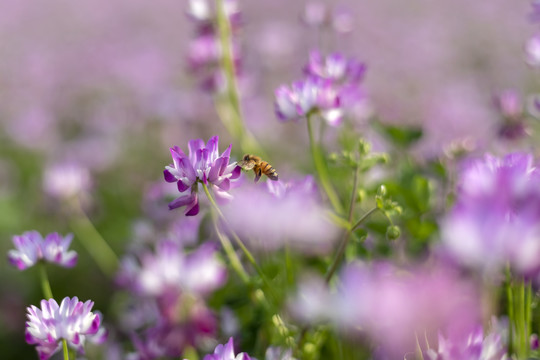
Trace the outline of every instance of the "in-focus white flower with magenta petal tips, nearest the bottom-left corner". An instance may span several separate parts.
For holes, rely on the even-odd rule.
[[[91,312],[92,306],[92,301],[83,303],[77,297],[64,298],[60,306],[54,299],[41,300],[41,309],[27,308],[26,342],[36,345],[41,360],[60,349],[62,339],[81,353],[86,340],[102,343],[106,331],[100,327],[100,315]]]

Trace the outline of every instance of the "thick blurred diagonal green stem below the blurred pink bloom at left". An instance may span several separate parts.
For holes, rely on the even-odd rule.
[[[78,201],[72,203],[75,217],[70,225],[81,244],[94,259],[101,271],[113,276],[118,267],[118,257],[94,227]]]

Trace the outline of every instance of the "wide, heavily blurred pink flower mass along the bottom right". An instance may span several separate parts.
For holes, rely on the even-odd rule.
[[[331,292],[318,278],[304,281],[291,303],[293,313],[305,322],[331,321],[349,335],[362,329],[388,358],[414,351],[415,333],[460,334],[480,320],[473,284],[443,267],[350,264],[339,284]]]

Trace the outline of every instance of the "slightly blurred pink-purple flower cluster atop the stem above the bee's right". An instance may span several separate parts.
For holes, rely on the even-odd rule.
[[[313,51],[304,69],[306,78],[276,90],[277,117],[290,121],[317,113],[332,126],[341,124],[346,109],[366,101],[360,86],[365,71],[365,64],[355,59]]]

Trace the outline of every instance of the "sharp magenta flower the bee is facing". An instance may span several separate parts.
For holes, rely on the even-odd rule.
[[[229,164],[232,145],[219,155],[218,141],[219,137],[214,136],[205,146],[201,139],[190,140],[189,155],[184,154],[178,146],[171,148],[173,164],[166,166],[163,171],[165,181],[176,182],[180,193],[189,193],[169,203],[169,209],[185,206],[186,216],[197,215],[198,183],[209,185],[218,200],[231,198],[228,190],[231,182],[240,177],[241,168],[236,163]]]

